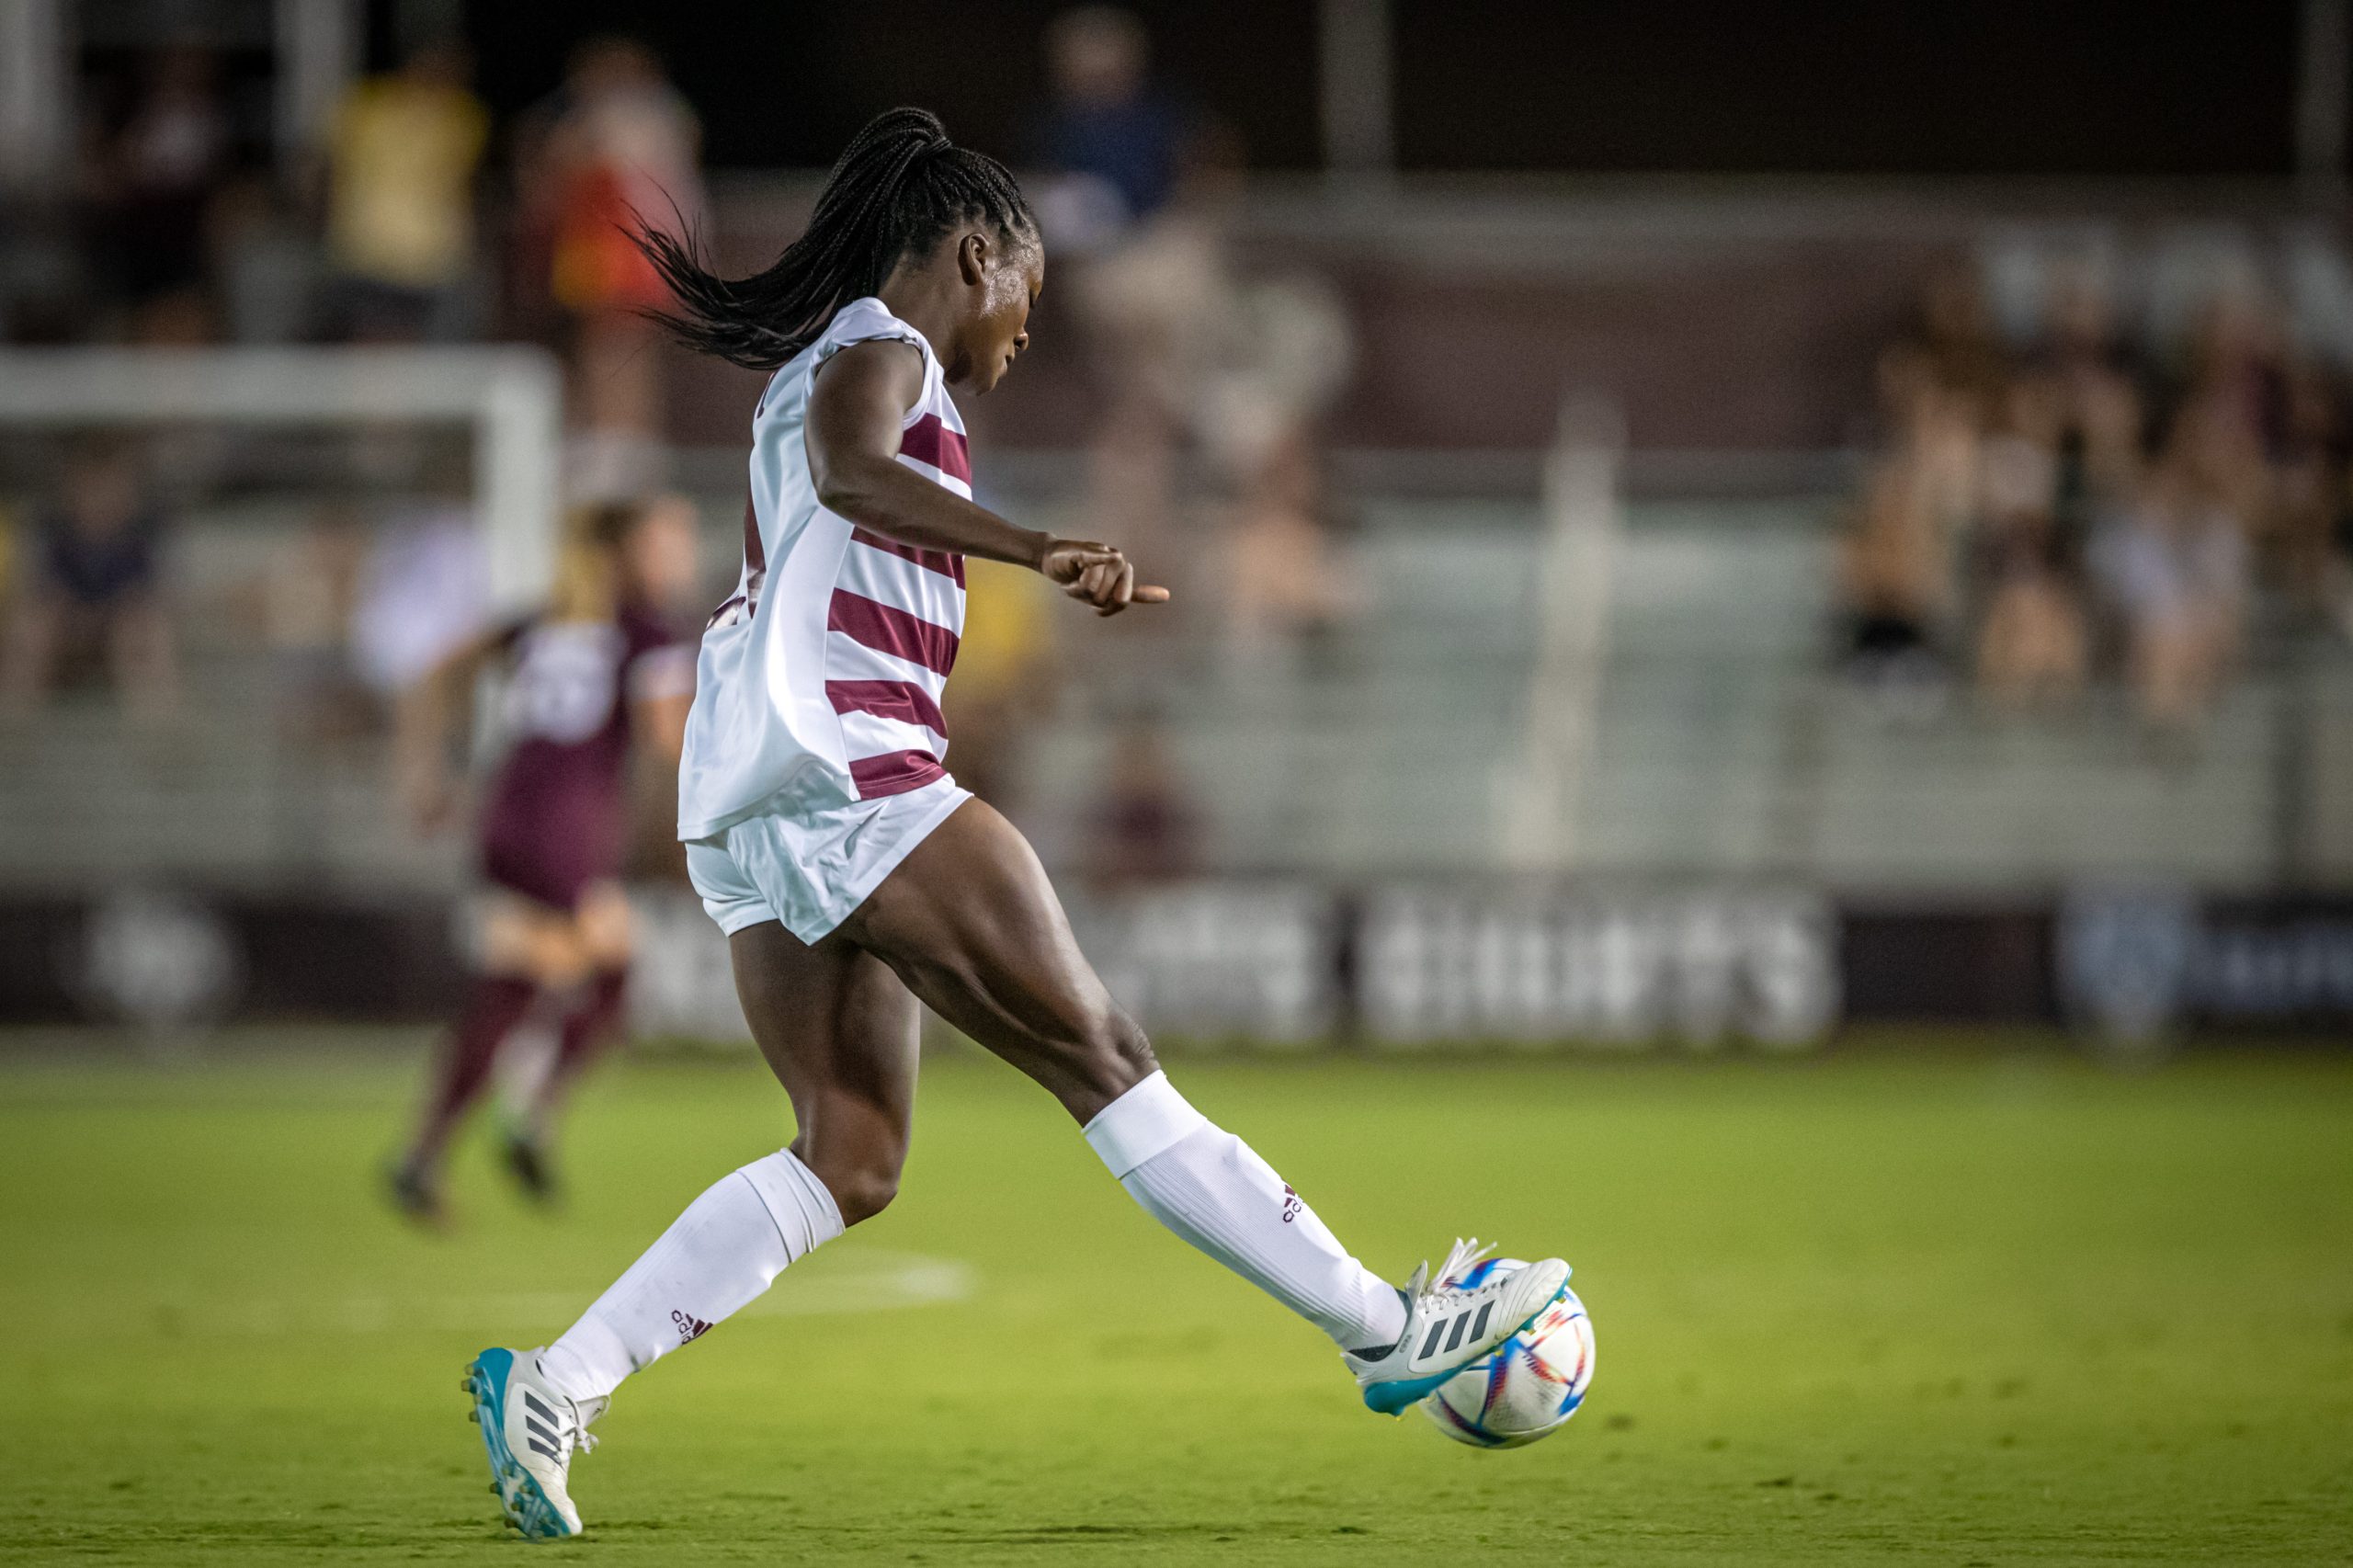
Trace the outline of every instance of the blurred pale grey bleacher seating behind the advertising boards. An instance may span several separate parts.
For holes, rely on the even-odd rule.
[[[2193,753],[2155,756],[2122,704],[1897,713],[1826,666],[1828,518],[1817,501],[1638,504],[1617,549],[1609,659],[1577,864],[1609,873],[1788,873],[1854,890],[2047,890],[2280,869],[2282,756],[2313,855],[2353,864],[2353,657],[2311,680],[2306,746],[2257,669]],[[1214,869],[1348,878],[1511,866],[1499,770],[1522,744],[1539,636],[1537,509],[1384,501],[1358,560],[1360,624],[1320,652],[1231,659],[1212,640],[1085,683],[1040,735],[1024,817],[1049,857],[1148,706],[1200,800]],[[1089,652],[1096,659],[1101,650]],[[125,876],[447,888],[464,843],[388,810],[379,744],[294,749],[266,657],[191,636],[188,723],[129,730],[104,699],[0,727],[0,866],[19,885]]]

